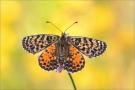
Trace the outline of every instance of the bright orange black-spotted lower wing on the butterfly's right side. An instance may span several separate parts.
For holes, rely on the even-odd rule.
[[[76,47],[69,43],[69,53],[64,62],[64,69],[68,72],[77,72],[84,68],[85,60]]]

